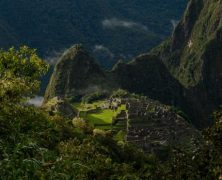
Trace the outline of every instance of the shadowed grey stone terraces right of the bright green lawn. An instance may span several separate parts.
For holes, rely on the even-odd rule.
[[[201,138],[191,124],[166,105],[152,100],[129,99],[126,109],[126,141],[147,152],[174,145],[189,149]]]

